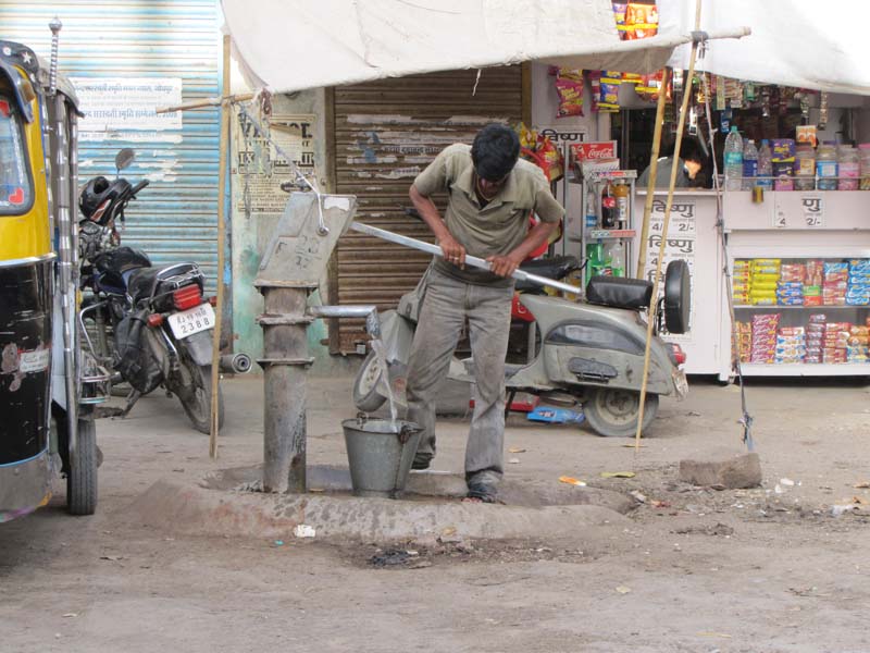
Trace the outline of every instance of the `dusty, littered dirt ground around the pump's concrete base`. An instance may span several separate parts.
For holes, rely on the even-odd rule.
[[[350,384],[311,380],[310,463],[345,461]],[[745,451],[733,386],[694,380],[685,402],[663,401],[637,454],[512,417],[506,445],[525,452],[507,454],[519,460],[508,475],[639,491],[630,526],[571,542],[414,545],[411,556],[409,544],[383,567],[371,564],[385,553],[377,543],[184,538],[130,519],[161,477],[261,460],[261,381],[229,380],[224,392],[217,461],[174,399],[147,397],[99,424],[96,516],[66,516],[61,491],[0,526],[0,651],[870,651],[870,517],[831,515],[870,501],[855,486],[870,481],[863,384],[753,383],[757,490],[678,479],[682,458]],[[439,422],[436,468],[461,470],[465,431],[461,419]]]

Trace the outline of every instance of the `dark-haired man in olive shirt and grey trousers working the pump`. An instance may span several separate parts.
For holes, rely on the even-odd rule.
[[[423,428],[413,467],[427,468],[435,455],[435,392],[468,320],[476,393],[465,481],[469,500],[486,503],[496,500],[504,470],[510,275],[547,241],[564,214],[544,173],[519,156],[513,131],[486,125],[471,147],[456,144],[442,151],[409,193],[444,252],[426,271],[408,369],[408,419]],[[431,199],[442,190],[448,194],[444,219]],[[532,211],[540,222],[530,230]],[[467,255],[486,259],[490,271],[467,268]]]

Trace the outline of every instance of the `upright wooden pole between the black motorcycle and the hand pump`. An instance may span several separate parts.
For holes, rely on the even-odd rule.
[[[217,184],[217,301],[215,306],[216,320],[212,332],[211,353],[211,431],[209,433],[209,456],[217,458],[217,432],[220,424],[220,408],[217,406],[219,384],[221,381],[221,326],[224,315],[224,266],[226,239],[226,150],[229,146],[229,35],[224,35],[223,48],[223,98],[221,101],[221,153],[219,157],[220,182]]]

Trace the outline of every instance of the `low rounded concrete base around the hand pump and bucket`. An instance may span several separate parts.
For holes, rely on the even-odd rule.
[[[599,527],[630,523],[620,513],[634,506],[630,496],[554,482],[548,486],[502,483],[508,505],[459,501],[465,493],[458,475],[411,475],[406,498],[350,495],[347,469],[309,469],[304,495],[252,491],[257,467],[224,470],[200,482],[164,479],[136,498],[130,519],[154,528],[195,535],[293,540],[299,525],[313,527],[316,540],[389,542],[442,537],[468,540],[583,538]],[[562,486],[560,486],[562,485]]]

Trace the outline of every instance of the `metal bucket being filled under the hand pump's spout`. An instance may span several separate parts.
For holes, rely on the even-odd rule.
[[[413,422],[358,417],[341,422],[356,496],[399,498],[420,443]]]

